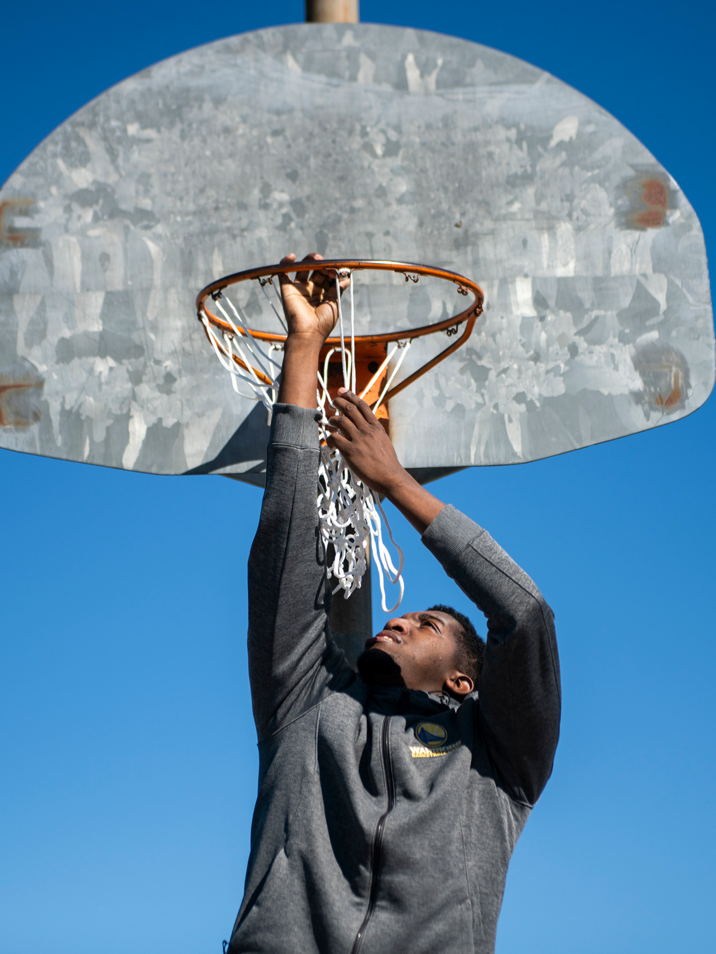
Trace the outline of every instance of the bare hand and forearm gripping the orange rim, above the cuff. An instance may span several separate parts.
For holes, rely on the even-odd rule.
[[[286,255],[282,265],[294,262],[296,256]],[[304,261],[323,261],[316,252],[306,255]],[[284,315],[288,324],[288,337],[284,344],[284,364],[281,371],[279,404],[296,404],[298,407],[316,407],[318,386],[318,359],[326,338],[338,320],[336,297],[336,273],[298,272],[291,281],[282,275],[281,296]],[[341,290],[348,279],[341,280]]]

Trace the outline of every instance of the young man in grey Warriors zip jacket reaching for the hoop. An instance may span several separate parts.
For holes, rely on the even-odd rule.
[[[229,951],[488,954],[557,747],[553,614],[486,530],[412,480],[369,406],[344,392],[330,443],[488,621],[485,646],[450,607],[406,612],[351,670],[328,628],[316,512],[316,372],[335,281],[297,273],[282,292],[284,370],[248,564],[259,796]]]

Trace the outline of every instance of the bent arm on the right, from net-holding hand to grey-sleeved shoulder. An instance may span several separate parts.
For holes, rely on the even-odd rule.
[[[350,467],[385,494],[488,622],[479,680],[479,726],[514,798],[534,805],[552,772],[559,735],[554,616],[541,593],[490,534],[446,507],[400,466],[368,404],[346,392],[330,438]]]

